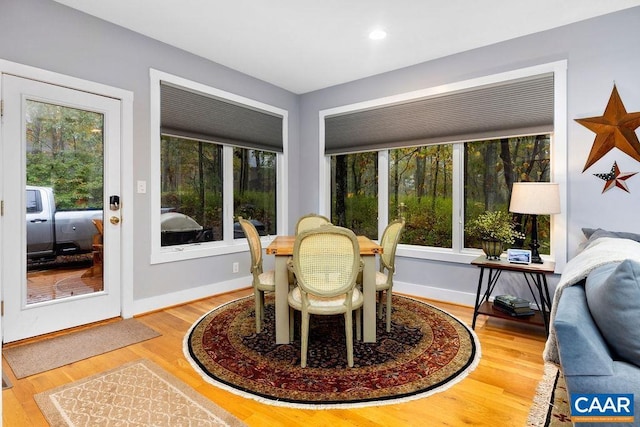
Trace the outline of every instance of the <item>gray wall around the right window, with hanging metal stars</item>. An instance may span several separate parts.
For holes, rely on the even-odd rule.
[[[574,121],[602,115],[614,82],[627,111],[640,111],[639,24],[640,7],[636,7],[302,95],[300,152],[306,173],[299,179],[309,194],[300,201],[301,209],[317,208],[320,110],[567,60],[568,164],[559,165],[567,168],[568,206],[562,207],[568,215],[567,255],[575,254],[582,227],[640,232],[640,174],[627,181],[630,194],[620,189],[602,194],[604,181],[592,175],[608,172],[614,160],[624,172],[640,171],[640,165],[614,150],[582,173],[595,134]],[[469,302],[475,292],[477,271],[468,265],[406,258],[396,263],[395,282],[410,293]],[[508,290],[514,286],[505,282]]]

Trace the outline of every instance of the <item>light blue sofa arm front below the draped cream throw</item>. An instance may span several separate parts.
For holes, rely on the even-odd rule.
[[[553,326],[565,376],[613,375],[611,352],[591,317],[584,285],[563,289]]]

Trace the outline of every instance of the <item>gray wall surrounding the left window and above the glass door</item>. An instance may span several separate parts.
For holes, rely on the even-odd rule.
[[[289,112],[290,157],[298,156],[299,97],[201,57],[143,37],[50,0],[0,0],[0,58],[98,82],[134,93],[133,182],[151,181],[149,68],[207,84]],[[297,162],[292,162],[295,177]],[[288,191],[298,193],[297,180]],[[149,191],[153,191],[149,188]],[[249,255],[209,257],[150,265],[150,193],[134,194],[134,299],[181,292],[238,279],[231,264],[249,274]],[[131,201],[123,200],[131,206]],[[296,199],[289,201],[296,209]],[[131,220],[124,218],[124,220]],[[250,286],[250,280],[243,281]]]

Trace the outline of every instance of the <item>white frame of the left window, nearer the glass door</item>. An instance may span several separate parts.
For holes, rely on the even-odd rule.
[[[198,82],[187,80],[159,70],[150,69],[150,125],[151,125],[151,179],[148,188],[150,192],[150,227],[151,227],[151,264],[182,261],[187,259],[202,258],[208,256],[224,255],[243,252],[248,249],[246,239],[233,238],[233,146],[224,145],[223,157],[223,238],[214,242],[190,243],[176,246],[161,246],[160,239],[160,82],[168,82],[186,89],[192,89],[209,94],[220,99],[226,99],[247,108],[253,108],[279,115],[282,117],[282,153],[276,153],[276,188],[286,188],[288,174],[286,168],[286,156],[288,146],[288,111],[265,104],[254,99],[246,98],[234,93],[226,92]],[[286,191],[277,191],[276,194],[277,230],[282,232],[288,222],[287,206],[288,196]],[[264,237],[263,244],[268,244],[272,237]]]

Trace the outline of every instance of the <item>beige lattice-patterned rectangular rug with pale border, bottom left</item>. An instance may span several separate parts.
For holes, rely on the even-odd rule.
[[[36,394],[52,426],[244,426],[148,360]]]

